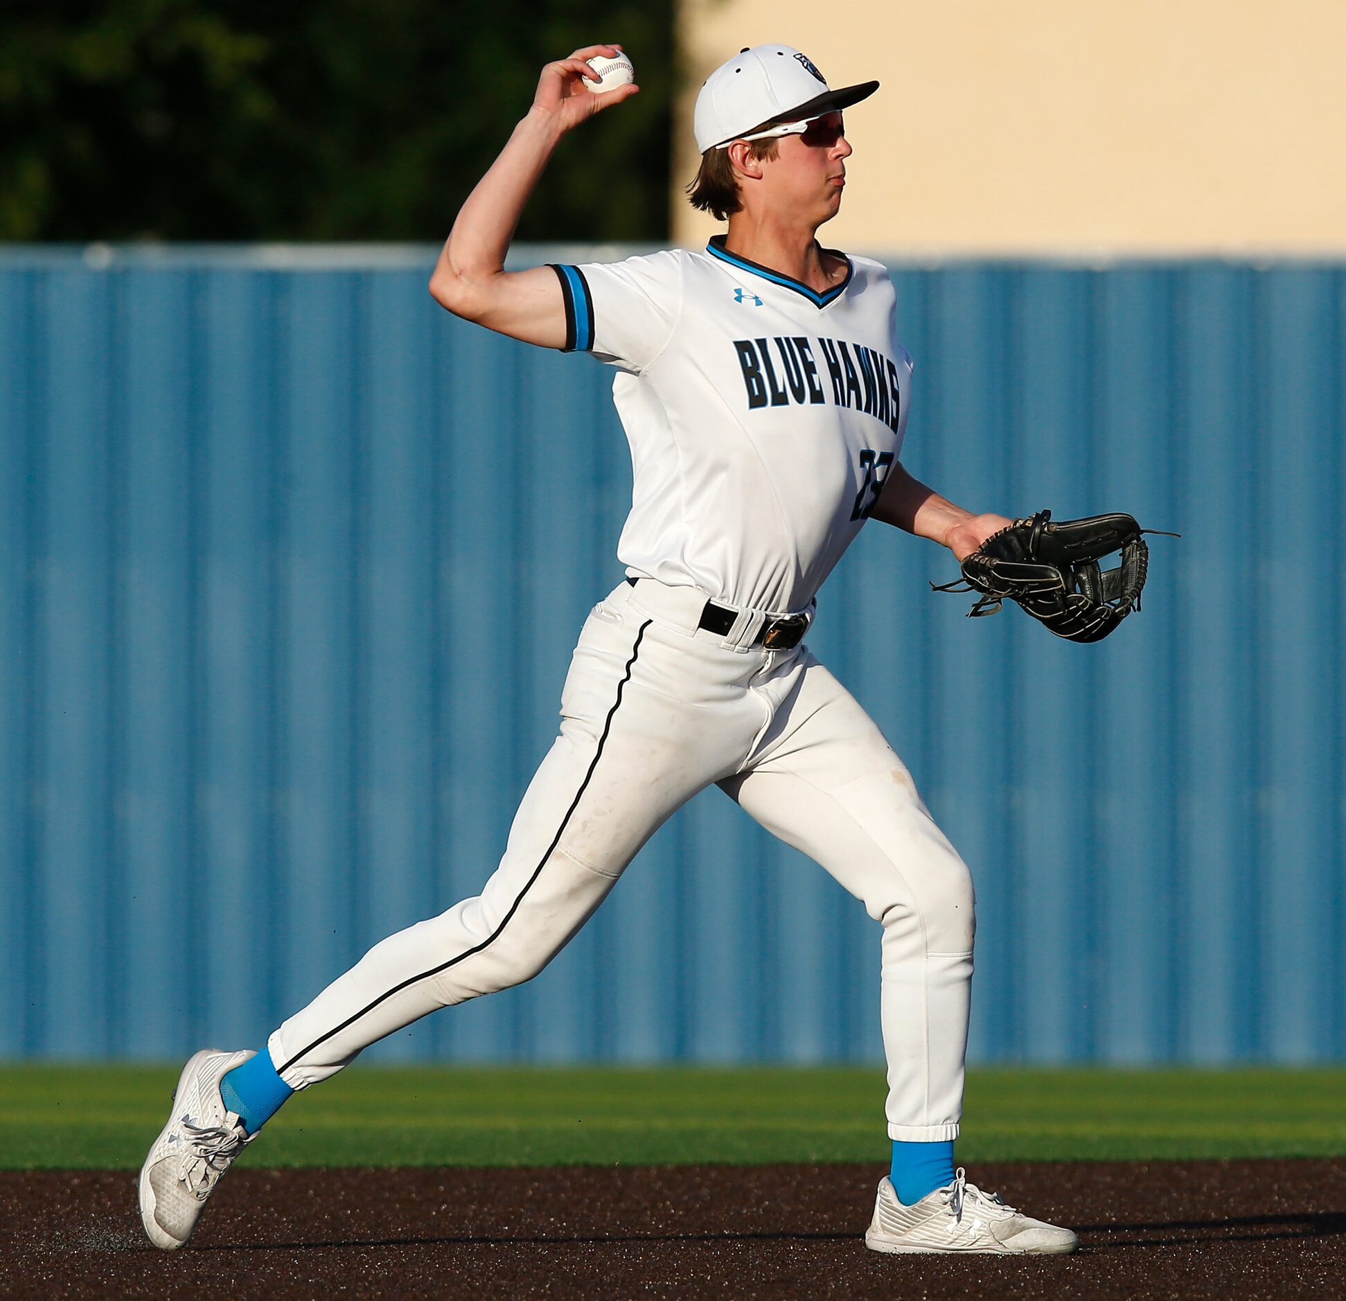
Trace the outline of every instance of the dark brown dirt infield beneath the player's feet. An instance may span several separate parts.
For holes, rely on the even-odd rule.
[[[1057,1258],[884,1257],[867,1165],[230,1175],[190,1247],[125,1170],[0,1173],[4,1297],[1346,1296],[1346,1161],[983,1165]]]

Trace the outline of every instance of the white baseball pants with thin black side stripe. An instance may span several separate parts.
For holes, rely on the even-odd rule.
[[[808,648],[751,648],[760,612],[697,628],[705,593],[623,583],[595,607],[561,731],[482,893],[376,944],[269,1040],[293,1088],[436,1008],[537,975],[662,822],[717,783],[883,923],[888,1134],[954,1138],[973,895],[906,767]]]

